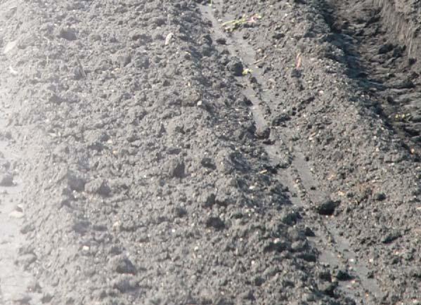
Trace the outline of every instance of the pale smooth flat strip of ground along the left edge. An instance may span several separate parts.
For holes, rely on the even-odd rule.
[[[24,181],[18,164],[24,157],[13,148],[13,138],[8,131],[8,120],[13,105],[6,90],[0,90],[0,304],[40,304],[42,295],[37,291],[34,276],[25,271],[36,259],[24,245],[22,226],[25,219],[25,202],[22,200]]]

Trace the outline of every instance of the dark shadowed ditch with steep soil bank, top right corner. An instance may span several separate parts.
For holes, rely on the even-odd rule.
[[[415,161],[421,148],[421,80],[411,25],[394,1],[318,1],[332,30],[330,42],[342,49],[333,58],[347,67],[367,97],[366,107],[399,134]],[[352,8],[352,9],[349,9]]]

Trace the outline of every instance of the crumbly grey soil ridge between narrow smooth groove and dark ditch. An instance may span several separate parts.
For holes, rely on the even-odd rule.
[[[353,8],[361,4],[347,3]],[[369,267],[367,278],[377,280],[382,294],[370,304],[416,303],[417,271],[410,268],[419,252],[417,153],[413,142],[403,143],[405,137],[394,131],[396,127],[385,124],[387,115],[382,115],[382,104],[375,98],[384,84],[365,77],[369,73],[358,57],[361,53],[348,56],[344,51],[343,46],[358,46],[355,39],[328,26],[351,27],[351,23],[326,20],[324,8],[320,1],[271,5],[228,1],[222,11],[235,13],[236,18],[262,14],[260,23],[235,33],[257,53],[253,60],[262,60],[257,65],[268,79],[262,84],[264,90],[276,92],[275,111],[264,109],[265,115],[272,120],[285,113],[287,121],[281,125],[290,128],[289,140],[304,148],[321,190],[340,201],[328,223]],[[358,15],[354,9],[349,15]],[[367,10],[370,15],[373,6]],[[370,22],[378,21],[377,15],[372,17]],[[373,48],[378,59],[380,50]],[[399,75],[391,77],[399,81]]]

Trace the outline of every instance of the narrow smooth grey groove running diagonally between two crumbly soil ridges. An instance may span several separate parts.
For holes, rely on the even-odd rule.
[[[245,67],[252,70],[248,78],[239,77],[243,93],[250,99],[250,106],[257,130],[269,130],[264,147],[273,167],[277,168],[278,181],[287,186],[292,204],[302,212],[302,223],[311,224],[316,230],[314,237],[309,237],[311,243],[318,249],[318,261],[325,266],[346,270],[352,280],[339,281],[337,285],[347,297],[358,304],[378,304],[383,294],[377,281],[370,278],[368,267],[358,261],[350,243],[343,238],[334,224],[330,222],[332,215],[319,215],[316,209],[329,200],[329,195],[319,190],[318,181],[314,178],[311,163],[306,160],[302,148],[290,141],[294,137],[292,131],[280,126],[273,128],[270,113],[276,112],[272,100],[276,98],[273,92],[263,89],[271,82],[266,79],[263,70],[256,66],[253,48],[242,39],[238,32],[227,34],[221,27],[221,20],[214,15],[219,8],[219,2],[213,1],[212,6],[200,6],[205,18],[212,22],[214,39],[224,37],[226,48],[235,56],[241,58]],[[225,16],[226,18],[230,16]],[[233,16],[231,16],[233,17]],[[234,20],[234,18],[231,18]],[[248,79],[242,81],[242,79]]]

